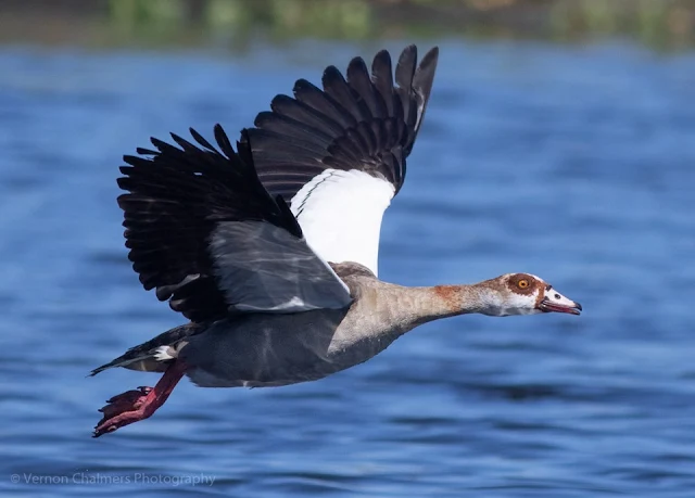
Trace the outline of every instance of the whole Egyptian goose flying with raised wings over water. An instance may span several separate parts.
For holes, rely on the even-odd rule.
[[[426,322],[466,314],[564,312],[582,306],[531,273],[408,288],[378,279],[381,220],[403,187],[439,60],[406,47],[296,80],[242,129],[212,144],[151,139],[125,155],[128,258],[186,323],[91,372],[163,373],[112,397],[93,437],[152,416],[188,376],[202,387],[316,381],[371,359]]]

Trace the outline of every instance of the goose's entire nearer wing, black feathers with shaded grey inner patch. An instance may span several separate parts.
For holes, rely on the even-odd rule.
[[[219,125],[220,151],[191,135],[198,145],[172,135],[178,146],[152,139],[156,150],[124,156],[118,205],[144,289],[193,321],[348,306],[345,284],[258,180],[247,131],[238,153]]]

